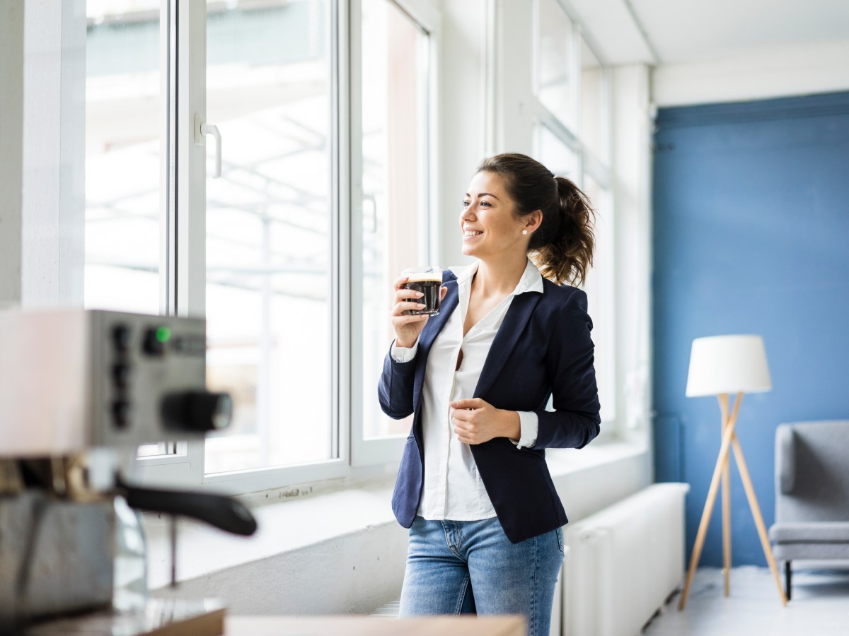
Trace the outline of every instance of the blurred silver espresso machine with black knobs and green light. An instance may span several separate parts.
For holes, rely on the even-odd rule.
[[[88,633],[222,633],[220,606],[113,602],[127,505],[256,530],[236,499],[132,480],[138,446],[228,426],[232,402],[206,390],[205,353],[200,319],[0,312],[0,633],[87,631],[77,626],[95,619],[102,631]]]

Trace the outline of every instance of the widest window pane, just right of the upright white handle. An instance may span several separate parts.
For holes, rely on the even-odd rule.
[[[223,139],[222,178],[206,181],[207,383],[234,412],[206,440],[205,471],[327,460],[329,3],[207,10],[206,121]]]

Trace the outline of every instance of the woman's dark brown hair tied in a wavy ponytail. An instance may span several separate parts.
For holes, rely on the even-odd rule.
[[[528,253],[543,276],[558,284],[582,284],[593,265],[595,247],[595,211],[587,195],[565,176],[554,176],[525,154],[504,153],[484,159],[478,166],[481,171],[501,176],[516,204],[517,217],[542,211],[543,222],[531,236]]]

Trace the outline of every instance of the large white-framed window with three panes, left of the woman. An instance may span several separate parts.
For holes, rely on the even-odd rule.
[[[205,315],[235,406],[143,473],[245,492],[395,461],[375,390],[391,282],[430,254],[429,29],[402,0],[87,12],[86,304]]]

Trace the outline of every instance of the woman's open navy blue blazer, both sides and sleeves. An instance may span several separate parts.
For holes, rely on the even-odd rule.
[[[386,354],[378,386],[380,407],[395,419],[413,416],[392,495],[392,510],[403,527],[413,525],[424,484],[421,399],[424,368],[436,335],[458,304],[457,277],[446,271],[447,294],[439,314],[419,334],[419,349],[408,362]],[[478,473],[498,521],[518,543],[563,526],[563,505],[545,463],[547,448],[580,449],[599,434],[599,394],[593,368],[593,322],[587,294],[543,279],[544,293],[513,298],[486,362],[475,394],[498,409],[534,411],[537,444],[517,449],[508,438],[472,445]],[[548,411],[554,396],[554,411]]]

